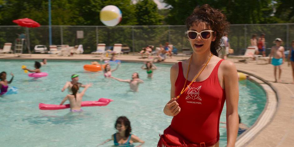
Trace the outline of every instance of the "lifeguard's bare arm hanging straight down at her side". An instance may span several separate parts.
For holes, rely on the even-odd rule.
[[[238,101],[239,87],[238,74],[235,65],[230,61],[223,64],[223,79],[226,93],[226,127],[227,127],[227,147],[235,146],[238,135]]]

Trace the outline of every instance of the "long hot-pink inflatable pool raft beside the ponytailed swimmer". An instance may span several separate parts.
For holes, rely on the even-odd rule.
[[[92,107],[92,106],[106,106],[110,102],[112,102],[112,99],[105,99],[100,98],[98,101],[82,101],[82,107]],[[54,104],[39,104],[39,109],[41,110],[59,110],[59,109],[66,109],[70,108],[69,104],[65,105],[54,105]]]

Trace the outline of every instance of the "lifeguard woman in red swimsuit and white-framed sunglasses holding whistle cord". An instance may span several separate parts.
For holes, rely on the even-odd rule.
[[[227,147],[238,134],[238,75],[231,61],[218,57],[221,37],[229,23],[208,4],[186,19],[193,53],[170,69],[170,100],[164,113],[173,116],[158,146],[219,146],[219,122],[226,101]],[[197,76],[196,76],[197,75]]]

